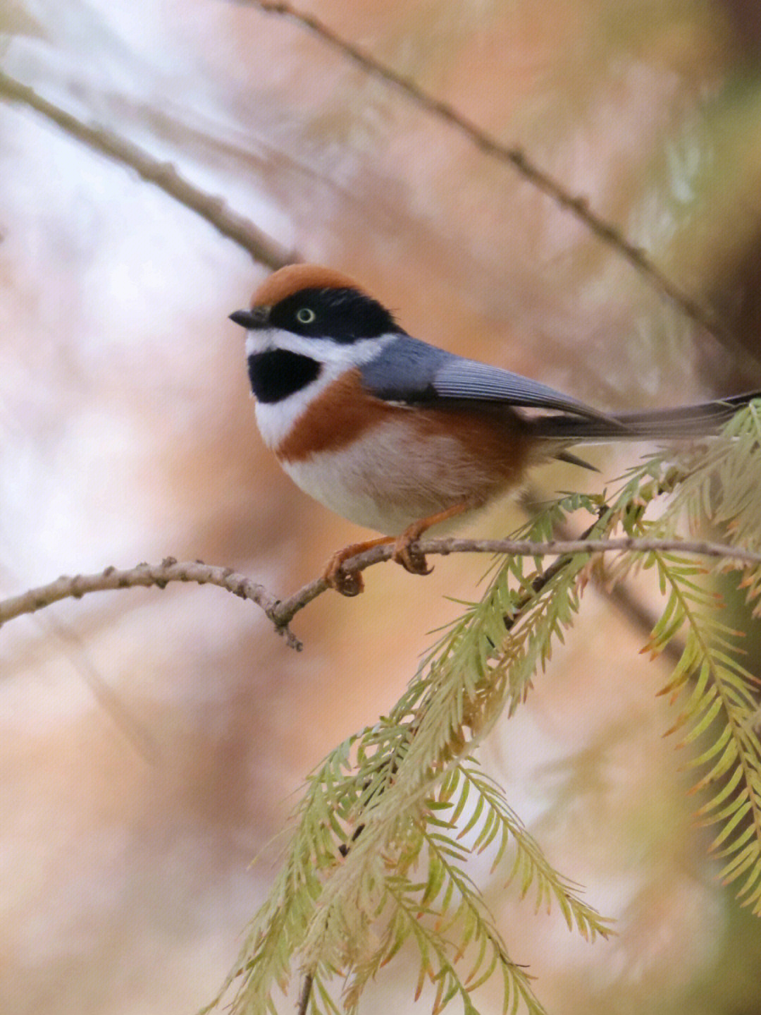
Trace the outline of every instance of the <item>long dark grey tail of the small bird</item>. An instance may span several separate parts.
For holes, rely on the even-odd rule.
[[[534,420],[535,433],[539,437],[567,441],[569,445],[700,436],[716,433],[728,419],[754,398],[761,398],[761,391],[677,409],[621,412],[597,419],[572,415],[546,416]]]

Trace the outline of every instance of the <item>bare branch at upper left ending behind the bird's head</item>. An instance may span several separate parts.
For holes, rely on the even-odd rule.
[[[70,113],[43,98],[33,88],[1,70],[0,96],[34,110],[75,140],[122,165],[130,166],[142,180],[154,184],[179,204],[201,215],[223,236],[247,251],[259,264],[275,269],[298,260],[293,251],[287,251],[249,219],[231,211],[221,197],[214,197],[195,187],[177,173],[171,162],[157,161],[132,141],[102,127],[77,120]]]

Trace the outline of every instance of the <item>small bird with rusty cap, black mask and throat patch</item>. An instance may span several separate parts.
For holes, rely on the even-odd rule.
[[[316,265],[276,271],[230,319],[247,332],[264,444],[306,493],[384,534],[330,557],[324,578],[345,595],[363,588],[343,567],[356,553],[393,543],[398,563],[426,573],[414,543],[427,529],[516,487],[533,465],[587,466],[574,445],[712,433],[761,396],[608,415],[412,338],[357,282]]]

